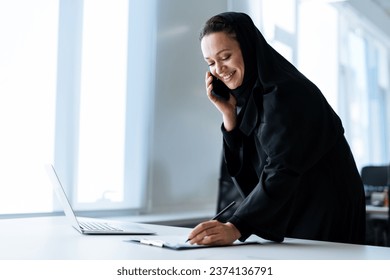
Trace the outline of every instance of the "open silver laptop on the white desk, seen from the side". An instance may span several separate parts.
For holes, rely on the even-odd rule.
[[[78,232],[82,234],[155,234],[155,232],[145,229],[136,223],[77,217],[72,209],[64,188],[62,187],[60,178],[58,177],[54,166],[52,164],[46,165],[46,171],[53,185],[54,192],[64,208],[65,216]]]

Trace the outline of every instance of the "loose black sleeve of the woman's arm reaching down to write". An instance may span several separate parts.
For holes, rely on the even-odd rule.
[[[253,191],[229,220],[241,232],[281,242],[300,179],[342,134],[341,123],[321,94],[291,94],[275,88],[264,95],[264,116],[254,137],[266,164]],[[241,170],[249,168],[241,162]],[[235,174],[239,178],[239,173]],[[239,180],[237,180],[240,184]]]

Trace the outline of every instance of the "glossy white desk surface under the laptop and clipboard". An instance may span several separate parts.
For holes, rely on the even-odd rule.
[[[144,226],[157,235],[187,235],[190,231],[180,227]],[[0,237],[2,260],[390,260],[390,248],[301,239],[286,239],[283,243],[259,239],[261,244],[258,245],[174,251],[124,242],[131,238],[129,235],[82,235],[67,223],[65,217],[0,220]]]

